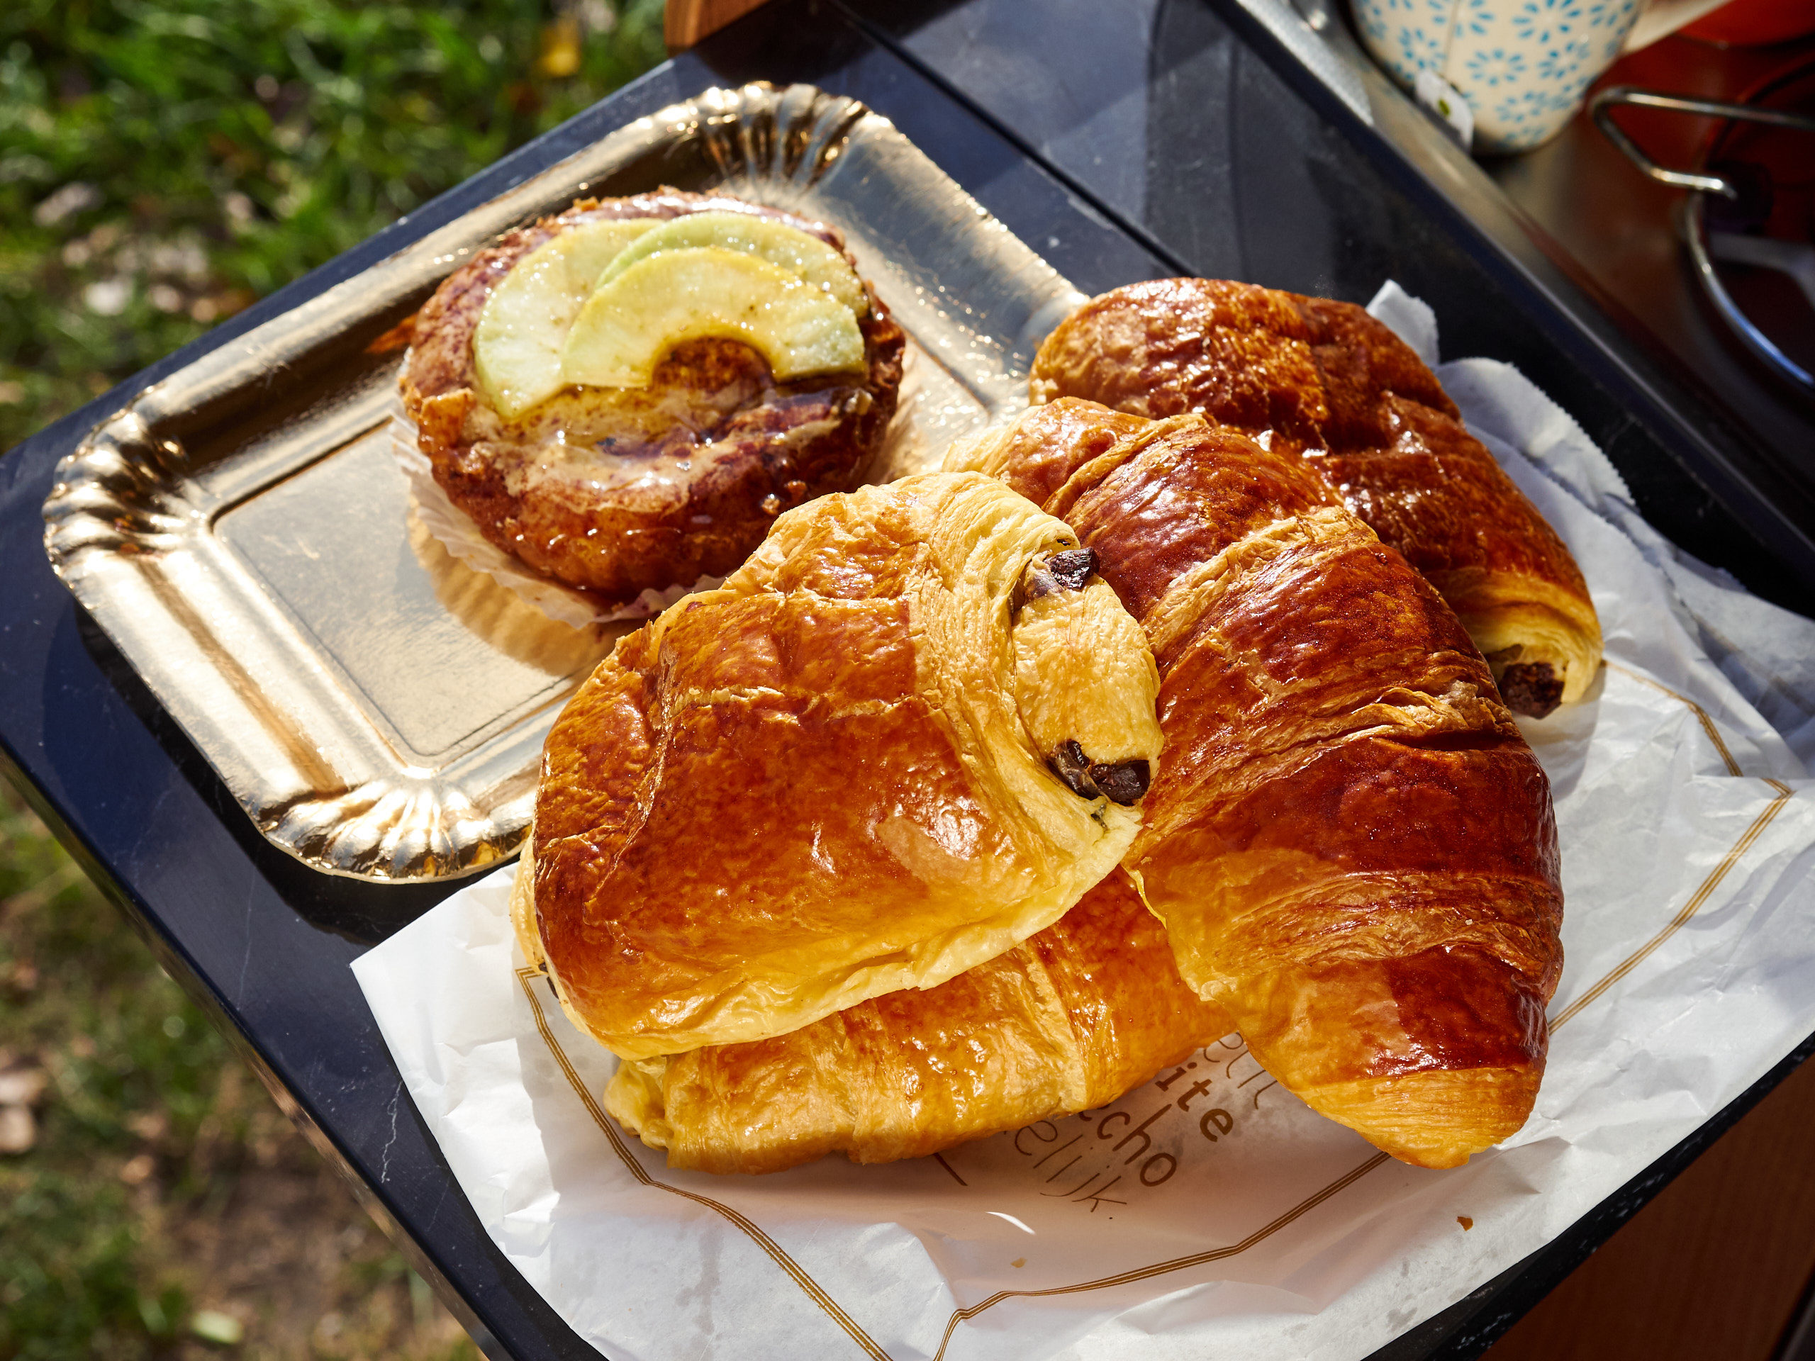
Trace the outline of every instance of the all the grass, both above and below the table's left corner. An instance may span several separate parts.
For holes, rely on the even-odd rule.
[[[5,0],[0,448],[661,56],[661,0]],[[0,1045],[0,1361],[477,1356],[4,786]]]

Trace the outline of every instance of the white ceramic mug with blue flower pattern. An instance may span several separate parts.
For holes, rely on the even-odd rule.
[[[1361,40],[1401,85],[1434,71],[1468,102],[1474,149],[1528,151],[1570,122],[1643,0],[1354,0]]]

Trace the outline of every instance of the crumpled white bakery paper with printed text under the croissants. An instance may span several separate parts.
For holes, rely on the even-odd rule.
[[[1428,308],[1387,285],[1374,310],[1436,361]],[[623,1361],[1365,1357],[1815,1031],[1815,626],[1659,539],[1516,370],[1439,374],[1606,630],[1588,699],[1521,720],[1557,804],[1566,965],[1517,1138],[1405,1167],[1231,1036],[1104,1111],[940,1158],[670,1172],[599,1109],[615,1060],[521,969],[506,869],[354,971],[486,1230],[583,1337]]]

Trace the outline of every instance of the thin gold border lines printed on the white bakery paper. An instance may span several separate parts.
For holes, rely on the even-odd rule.
[[[1637,671],[1632,671],[1632,670],[1628,670],[1624,666],[1619,666],[1617,662],[1606,662],[1606,666],[1610,670],[1619,671],[1621,675],[1626,675],[1626,677],[1632,677],[1634,680],[1639,680],[1641,684],[1652,686],[1653,690],[1661,690],[1663,693],[1670,695],[1672,699],[1686,704],[1695,713],[1697,720],[1702,726],[1702,731],[1713,742],[1715,749],[1721,753],[1721,759],[1726,762],[1728,771],[1732,775],[1735,775],[1735,777],[1742,777],[1742,771],[1739,769],[1739,762],[1733,760],[1733,753],[1728,749],[1726,742],[1721,739],[1719,729],[1715,728],[1713,720],[1708,717],[1708,711],[1702,710],[1701,704],[1697,704],[1695,700],[1692,700],[1688,695],[1681,695],[1675,690],[1670,690],[1668,686],[1663,686],[1657,680],[1652,680],[1650,677],[1639,675]],[[1695,889],[1695,893],[1690,896],[1690,900],[1683,906],[1683,909],[1675,916],[1672,916],[1670,922],[1655,936],[1652,936],[1648,942],[1644,942],[1644,945],[1641,945],[1637,951],[1634,951],[1624,960],[1621,960],[1621,964],[1615,965],[1604,978],[1601,978],[1594,987],[1590,987],[1586,993],[1583,993],[1583,996],[1579,996],[1575,1002],[1572,1002],[1568,1007],[1565,1007],[1563,1013],[1557,1014],[1557,1018],[1554,1022],[1550,1022],[1550,1031],[1552,1033],[1563,1029],[1563,1025],[1566,1025],[1575,1014],[1579,1014],[1590,1002],[1594,1002],[1595,998],[1603,996],[1614,984],[1617,984],[1621,978],[1624,978],[1628,973],[1632,973],[1639,964],[1644,962],[1644,958],[1648,955],[1652,955],[1659,945],[1663,945],[1666,940],[1670,940],[1670,936],[1673,936],[1677,931],[1681,931],[1690,922],[1690,918],[1693,918],[1695,913],[1699,913],[1702,909],[1702,906],[1706,906],[1708,898],[1721,886],[1721,880],[1724,880],[1726,875],[1728,875],[1728,871],[1732,871],[1732,867],[1735,864],[1739,864],[1741,857],[1746,851],[1751,849],[1753,842],[1757,842],[1759,837],[1764,835],[1764,829],[1777,818],[1777,815],[1782,811],[1784,804],[1788,804],[1790,798],[1795,793],[1788,784],[1784,784],[1781,780],[1766,778],[1764,784],[1768,784],[1771,789],[1775,789],[1777,797],[1759,813],[1759,817],[1755,817],[1751,820],[1751,826],[1746,827],[1746,831],[1741,835],[1741,838],[1721,858],[1721,864],[1717,864],[1710,871],[1708,878],[1704,878],[1701,882],[1701,886]],[[586,1107],[586,1111],[592,1116],[594,1123],[599,1125],[599,1129],[604,1132],[604,1136],[612,1141],[612,1149],[617,1152],[619,1160],[624,1163],[624,1167],[630,1170],[630,1174],[639,1183],[643,1183],[644,1187],[652,1187],[655,1190],[666,1190],[670,1194],[675,1194],[675,1196],[681,1196],[684,1199],[695,1201],[697,1205],[704,1205],[706,1209],[711,1209],[711,1210],[722,1214],[728,1221],[731,1221],[741,1230],[744,1230],[744,1234],[748,1234],[751,1238],[751,1241],[757,1243],[757,1247],[760,1247],[764,1252],[768,1252],[770,1258],[784,1272],[788,1272],[790,1278],[793,1278],[795,1285],[799,1285],[808,1294],[808,1297],[815,1305],[819,1305],[826,1312],[828,1317],[833,1319],[833,1323],[837,1323],[840,1328],[844,1328],[844,1332],[851,1337],[851,1341],[855,1341],[868,1356],[871,1356],[875,1361],[893,1361],[893,1357],[889,1357],[889,1354],[884,1352],[868,1332],[864,1332],[864,1328],[857,1323],[857,1319],[853,1319],[849,1314],[846,1314],[844,1308],[840,1308],[839,1303],[824,1290],[824,1287],[820,1287],[811,1276],[808,1276],[806,1270],[791,1256],[788,1256],[788,1252],[780,1247],[780,1243],[777,1243],[773,1238],[770,1238],[750,1218],[746,1218],[739,1210],[733,1210],[730,1205],[724,1205],[721,1201],[711,1199],[710,1196],[701,1196],[701,1194],[692,1192],[692,1190],[681,1190],[679,1187],[672,1187],[672,1185],[668,1185],[664,1181],[657,1181],[655,1178],[652,1178],[643,1169],[643,1163],[639,1163],[635,1160],[635,1156],[630,1152],[630,1149],[624,1147],[624,1141],[619,1136],[617,1129],[613,1127],[612,1120],[599,1107],[597,1100],[588,1091],[584,1080],[579,1076],[579,1072],[574,1069],[574,1063],[568,1060],[566,1051],[561,1049],[561,1042],[555,1038],[555,1033],[548,1027],[548,1018],[543,1013],[541,1000],[535,996],[535,991],[530,985],[530,982],[534,978],[541,978],[541,976],[543,976],[541,969],[534,969],[534,967],[517,969],[517,982],[523,985],[523,994],[530,1000],[530,1009],[535,1013],[535,1029],[537,1029],[537,1033],[541,1033],[543,1043],[548,1045],[548,1051],[555,1056],[555,1062],[561,1065],[561,1071],[566,1074],[568,1085],[572,1085],[574,1091],[575,1091],[575,1094],[579,1094],[581,1103]],[[1189,1267],[1202,1267],[1202,1265],[1207,1265],[1211,1261],[1221,1261],[1225,1258],[1232,1258],[1232,1256],[1238,1256],[1241,1252],[1247,1252],[1249,1248],[1252,1248],[1260,1241],[1270,1238],[1272,1234],[1276,1234],[1281,1229],[1285,1229],[1287,1225],[1290,1225],[1300,1216],[1303,1216],[1309,1210],[1312,1210],[1318,1205],[1321,1205],[1325,1199],[1329,1199],[1336,1192],[1345,1190],[1347,1187],[1354,1185],[1356,1181],[1359,1181],[1363,1176],[1367,1176],[1369,1172],[1372,1172],[1376,1167],[1379,1167],[1387,1160],[1388,1160],[1388,1154],[1376,1152],[1372,1158],[1369,1158],[1367,1161],[1352,1167],[1349,1172],[1345,1172],[1343,1176],[1336,1178],[1334,1181],[1330,1181],[1321,1190],[1316,1190],[1310,1196],[1307,1196],[1305,1199],[1301,1199],[1298,1205],[1294,1205],[1292,1209],[1289,1209],[1285,1214],[1281,1214],[1272,1223],[1267,1223],[1261,1229],[1256,1229],[1252,1234],[1249,1234],[1247,1238],[1243,1238],[1240,1243],[1231,1243],[1229,1247],[1221,1247],[1221,1248],[1211,1248],[1207,1252],[1194,1252],[1194,1254],[1185,1256],[1185,1258],[1172,1258],[1169,1261],[1160,1261],[1160,1263],[1154,1263],[1151,1267],[1136,1267],[1134,1270],[1120,1272],[1116,1276],[1104,1276],[1104,1278],[1098,1278],[1094,1281],[1078,1281],[1076,1285],[1056,1285],[1056,1287],[1047,1287],[1044,1290],[998,1290],[996,1294],[989,1296],[987,1299],[980,1299],[975,1305],[969,1305],[966,1308],[955,1308],[951,1312],[951,1317],[946,1321],[946,1334],[940,1337],[938,1352],[935,1352],[933,1361],[942,1361],[942,1357],[946,1356],[946,1348],[951,1345],[951,1337],[957,1332],[957,1328],[958,1328],[960,1323],[967,1323],[969,1319],[973,1319],[978,1314],[982,1314],[986,1308],[1000,1305],[1004,1299],[1016,1299],[1016,1297],[1035,1299],[1035,1297],[1042,1297],[1042,1296],[1064,1296],[1064,1294],[1078,1294],[1078,1292],[1084,1292],[1084,1290],[1104,1290],[1104,1288],[1116,1287],[1116,1285],[1131,1285],[1134,1281],[1143,1281],[1143,1279],[1149,1279],[1153,1276],[1163,1276],[1163,1274],[1174,1272],[1174,1270],[1185,1270]],[[938,1158],[938,1161],[940,1161],[942,1167],[946,1167],[947,1172],[953,1174],[953,1178],[957,1178],[960,1181],[960,1185],[964,1185],[964,1180],[958,1178],[958,1174],[951,1169],[949,1163],[946,1163],[944,1158]]]

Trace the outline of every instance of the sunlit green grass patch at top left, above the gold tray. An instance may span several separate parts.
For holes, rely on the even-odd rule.
[[[7,0],[0,448],[661,56],[659,0]]]

